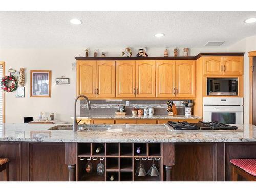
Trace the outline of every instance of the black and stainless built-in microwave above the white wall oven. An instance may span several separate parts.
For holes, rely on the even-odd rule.
[[[207,78],[207,95],[238,95],[238,79]]]

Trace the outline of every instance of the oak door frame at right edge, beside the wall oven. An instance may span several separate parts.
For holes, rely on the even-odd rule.
[[[252,109],[253,109],[253,57],[256,57],[256,51],[249,51],[249,86],[250,86],[250,101],[249,101],[249,123],[252,124]]]

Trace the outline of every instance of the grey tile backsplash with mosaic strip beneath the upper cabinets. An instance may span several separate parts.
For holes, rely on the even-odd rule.
[[[126,100],[90,100],[91,110],[87,110],[87,104],[85,100],[80,102],[80,115],[113,115],[115,114],[118,105],[123,104],[126,109],[127,115],[132,115],[132,108],[144,109],[145,106],[152,106],[154,108],[155,115],[167,115],[167,100],[129,100],[130,105],[126,105]],[[178,115],[185,114],[185,108],[183,106],[183,100],[173,101],[177,107]],[[181,106],[182,105],[182,106]]]

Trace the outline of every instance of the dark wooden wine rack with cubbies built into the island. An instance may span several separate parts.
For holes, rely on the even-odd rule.
[[[137,148],[140,153],[137,153]],[[96,152],[96,149],[100,149]],[[162,143],[78,143],[77,144],[77,181],[163,181]],[[92,172],[86,172],[88,159],[92,163]],[[155,166],[158,176],[137,176],[136,170],[142,160],[145,172]],[[97,174],[97,164],[104,165],[104,174]],[[103,160],[102,160],[103,159]],[[156,160],[157,159],[157,160]]]

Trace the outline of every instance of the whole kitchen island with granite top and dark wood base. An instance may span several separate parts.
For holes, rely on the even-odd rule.
[[[108,181],[113,172],[119,181],[229,181],[230,159],[256,158],[253,125],[237,125],[236,131],[191,132],[172,132],[160,124],[105,125],[110,128],[78,132],[70,130],[67,124],[55,126],[2,124],[0,156],[10,159],[11,180]],[[95,154],[100,144],[104,152]],[[138,146],[142,155],[135,153]],[[93,167],[99,158],[104,158],[103,176],[84,174],[89,157],[98,157],[91,160]],[[159,158],[156,164],[160,176],[135,176],[139,158],[146,158],[146,168],[152,163],[148,158]]]

